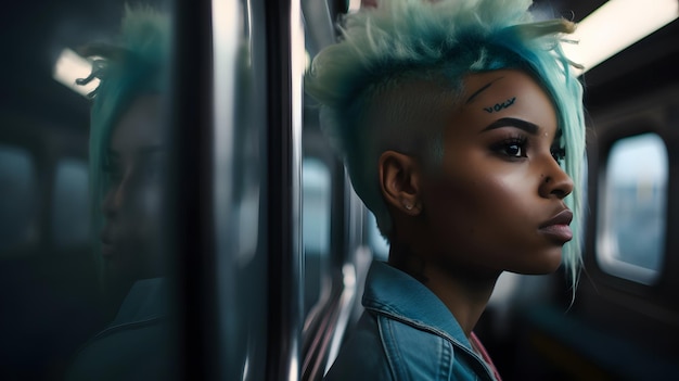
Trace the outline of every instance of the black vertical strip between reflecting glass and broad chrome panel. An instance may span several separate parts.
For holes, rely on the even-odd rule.
[[[177,323],[181,379],[210,380],[218,353],[213,220],[213,56],[209,0],[176,1],[172,40],[172,168]],[[170,206],[170,205],[168,205]]]

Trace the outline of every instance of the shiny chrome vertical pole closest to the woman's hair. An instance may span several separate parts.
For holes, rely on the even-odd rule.
[[[298,380],[302,332],[302,75],[297,0],[267,7],[269,115],[268,380]],[[303,51],[297,51],[302,49]],[[302,54],[299,54],[302,53]]]

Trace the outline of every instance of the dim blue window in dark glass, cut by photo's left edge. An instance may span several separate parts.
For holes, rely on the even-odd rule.
[[[25,149],[0,144],[0,253],[36,239],[37,176]]]

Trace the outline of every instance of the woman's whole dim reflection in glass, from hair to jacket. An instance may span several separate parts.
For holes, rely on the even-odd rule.
[[[164,123],[169,20],[126,8],[116,45],[91,45],[99,56],[93,96],[90,178],[106,303],[113,321],[78,353],[69,380],[161,380],[176,371],[165,280]]]

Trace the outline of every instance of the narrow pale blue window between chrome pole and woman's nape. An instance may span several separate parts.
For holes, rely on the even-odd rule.
[[[317,158],[302,165],[302,234],[305,251],[305,316],[330,280],[331,185],[328,166]]]

